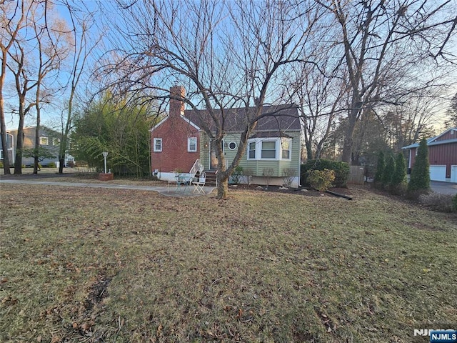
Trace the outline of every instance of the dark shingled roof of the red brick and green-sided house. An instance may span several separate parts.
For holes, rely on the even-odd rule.
[[[224,109],[224,131],[243,131],[248,121],[253,118],[255,109],[255,107]],[[221,118],[222,111],[218,109],[216,114]],[[262,114],[267,116],[258,120],[254,131],[300,131],[301,129],[298,110],[292,104],[263,106]],[[186,110],[184,116],[200,127],[202,122],[209,123],[211,131],[216,131],[213,119],[204,109]]]

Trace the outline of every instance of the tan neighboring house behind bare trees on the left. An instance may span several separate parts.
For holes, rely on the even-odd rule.
[[[29,126],[24,127],[24,134],[23,134],[23,148],[24,149],[34,149],[35,147],[35,132],[36,126]],[[17,141],[17,130],[10,130],[9,134],[14,137],[14,142]],[[54,159],[44,159],[40,161],[41,166],[47,166],[49,163],[54,162],[56,163],[59,161],[59,145],[60,145],[60,134],[57,131],[47,128],[46,126],[40,126],[39,132],[39,144],[40,146],[48,149],[51,151],[51,154],[56,156]],[[10,163],[14,164],[14,154],[13,158],[10,159]],[[34,159],[33,157],[22,157],[22,164],[24,166],[33,166]],[[57,164],[57,163],[56,163]]]

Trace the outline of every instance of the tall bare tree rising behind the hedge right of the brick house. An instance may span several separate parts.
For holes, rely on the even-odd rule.
[[[351,101],[343,161],[351,162],[353,130],[365,108],[382,102],[383,89],[401,79],[403,68],[443,57],[457,17],[451,1],[373,1],[319,3],[340,27]]]

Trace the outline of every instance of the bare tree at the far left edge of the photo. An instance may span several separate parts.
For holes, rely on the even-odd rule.
[[[4,151],[4,173],[11,174],[9,171],[10,161],[8,156],[8,146],[6,144],[6,123],[5,123],[5,103],[4,103],[4,85],[6,79],[6,65],[9,56],[9,50],[14,44],[16,37],[24,25],[26,7],[24,1],[7,2],[2,4],[0,9],[1,34],[1,74],[0,74],[0,132],[1,148]]]

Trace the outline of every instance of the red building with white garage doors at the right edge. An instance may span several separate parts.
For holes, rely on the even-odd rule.
[[[403,146],[409,149],[409,164],[416,161],[419,144]],[[457,127],[447,129],[436,137],[427,139],[430,179],[432,181],[457,182]]]

